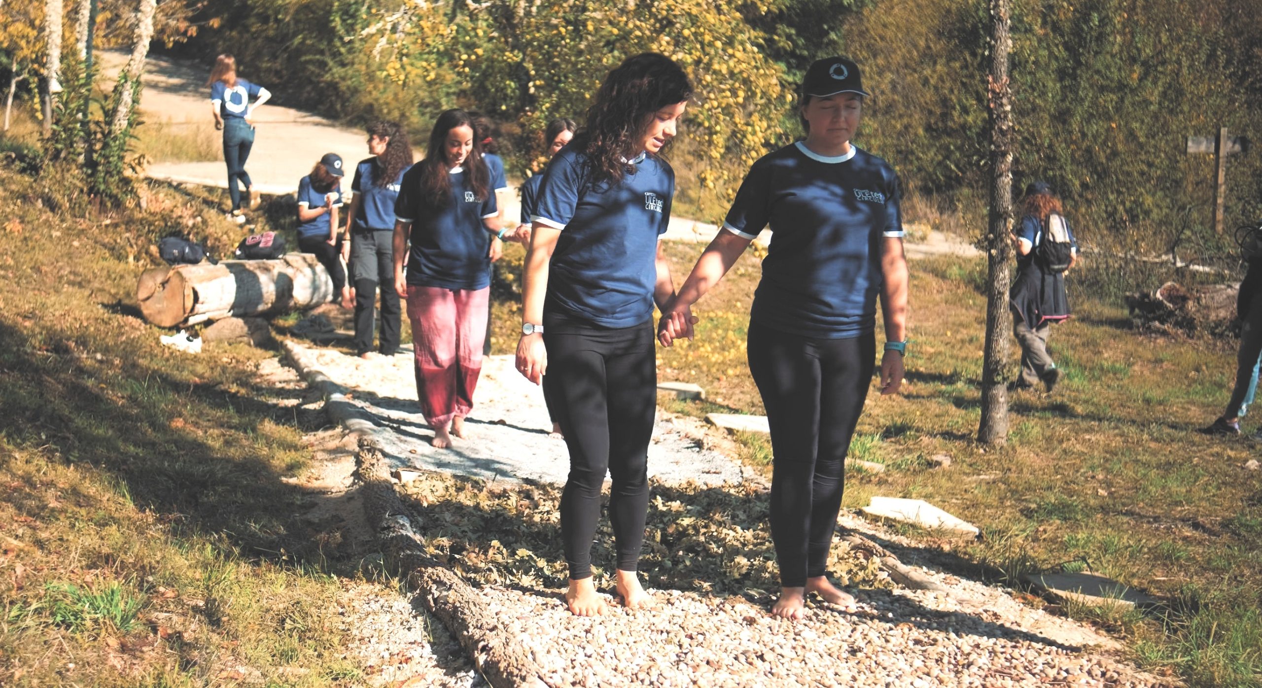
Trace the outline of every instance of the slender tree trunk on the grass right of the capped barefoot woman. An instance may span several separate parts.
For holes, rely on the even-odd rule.
[[[991,212],[987,230],[988,290],[986,297],[986,353],[982,362],[982,422],[978,441],[1003,444],[1008,438],[1008,346],[1012,312],[1012,50],[1010,0],[991,0]]]

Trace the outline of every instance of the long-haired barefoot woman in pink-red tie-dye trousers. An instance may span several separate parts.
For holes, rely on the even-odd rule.
[[[522,240],[515,230],[500,230],[497,216],[472,119],[463,110],[447,110],[429,134],[425,159],[403,175],[394,225],[395,290],[408,299],[416,396],[438,448],[451,447],[452,436],[464,437],[464,417],[473,408],[491,290],[491,239]]]

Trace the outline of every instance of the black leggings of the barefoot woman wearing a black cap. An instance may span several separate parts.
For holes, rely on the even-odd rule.
[[[876,359],[872,333],[786,335],[750,323],[750,372],[771,425],[771,539],[780,584],[824,574],[846,487],[846,452]]]

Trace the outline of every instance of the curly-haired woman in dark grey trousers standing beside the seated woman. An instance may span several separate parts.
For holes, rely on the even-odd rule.
[[[355,352],[363,359],[372,350],[372,319],[377,285],[381,287],[381,336],[377,351],[399,348],[400,308],[394,284],[394,206],[403,175],[411,168],[408,133],[396,122],[379,121],[367,129],[371,158],[355,165],[351,210],[346,213],[342,258],[351,266],[355,294]],[[346,305],[345,303],[342,305]]]

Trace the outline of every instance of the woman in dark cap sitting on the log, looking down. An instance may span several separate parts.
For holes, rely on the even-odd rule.
[[[338,249],[337,210],[342,207],[342,158],[326,153],[312,173],[298,182],[298,250],[316,254],[333,278],[333,293],[343,308],[351,303],[351,288]]]

